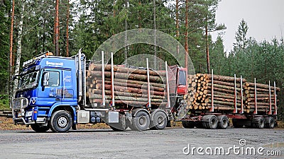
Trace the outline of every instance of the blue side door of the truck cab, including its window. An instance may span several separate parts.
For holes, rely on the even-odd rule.
[[[62,71],[44,69],[38,86],[38,105],[52,106],[62,100]]]

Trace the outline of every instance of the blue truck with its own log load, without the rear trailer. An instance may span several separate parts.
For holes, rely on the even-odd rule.
[[[67,132],[76,124],[105,122],[115,131],[164,129],[174,119],[167,73],[148,68],[87,62],[81,51],[74,57],[50,52],[23,63],[14,76],[18,88],[11,102],[14,124],[36,132]],[[175,98],[186,93],[186,70],[175,66],[179,78]],[[168,82],[166,82],[168,81]],[[182,83],[182,84],[181,84]]]

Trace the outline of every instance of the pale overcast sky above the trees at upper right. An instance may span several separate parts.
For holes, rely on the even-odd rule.
[[[284,36],[284,0],[222,0],[216,20],[226,25],[222,35],[225,52],[233,49],[235,33],[243,18],[249,26],[247,37],[254,37],[258,42],[270,42],[273,37],[280,40]],[[212,33],[213,40],[217,35]]]

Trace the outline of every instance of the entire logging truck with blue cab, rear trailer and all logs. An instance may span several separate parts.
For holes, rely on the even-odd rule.
[[[14,124],[36,132],[67,132],[76,124],[105,122],[114,131],[165,129],[180,120],[185,128],[273,128],[279,88],[212,74],[187,75],[181,66],[155,71],[87,61],[50,52],[23,63],[11,102]],[[275,85],[275,83],[274,83]],[[185,115],[186,114],[186,115]]]

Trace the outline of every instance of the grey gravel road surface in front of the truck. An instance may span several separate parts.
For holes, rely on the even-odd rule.
[[[239,143],[240,139],[246,141]],[[198,147],[200,150],[197,152]],[[195,149],[189,152],[188,150],[192,148]],[[229,152],[229,155],[223,155],[217,148],[224,148],[224,153]],[[229,148],[236,148],[235,152],[234,149]],[[246,148],[254,148],[256,155],[246,155],[245,151],[241,152],[241,148],[245,151]],[[264,150],[258,153],[258,148]],[[209,155],[211,149],[213,153]],[[217,155],[214,155],[214,150],[217,150]],[[281,155],[268,156],[266,155],[268,151],[280,152]],[[218,154],[219,152],[221,155]],[[86,129],[65,134],[51,131],[43,134],[27,130],[0,131],[0,158],[283,158],[283,156],[283,129],[164,129],[123,132]]]

